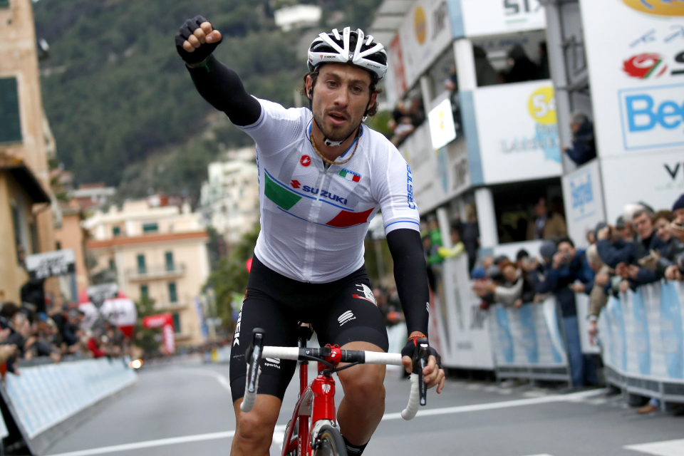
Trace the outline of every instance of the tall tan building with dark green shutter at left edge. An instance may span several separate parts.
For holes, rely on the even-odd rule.
[[[17,301],[23,257],[54,249],[48,154],[31,0],[0,0],[0,269],[4,299]],[[9,274],[9,275],[8,275]],[[58,295],[56,279],[46,291]]]

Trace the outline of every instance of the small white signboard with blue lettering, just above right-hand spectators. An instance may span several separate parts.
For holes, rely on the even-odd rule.
[[[598,222],[606,221],[598,160],[564,175],[562,182],[568,234],[577,247],[588,247],[586,233],[596,228]]]

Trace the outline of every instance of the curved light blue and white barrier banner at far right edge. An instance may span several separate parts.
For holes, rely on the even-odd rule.
[[[603,363],[628,378],[684,385],[682,302],[681,282],[641,286],[608,299],[598,321]]]

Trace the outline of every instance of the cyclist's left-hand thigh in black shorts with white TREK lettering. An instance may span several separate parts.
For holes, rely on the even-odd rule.
[[[235,327],[230,353],[230,390],[233,402],[244,396],[247,362],[244,352],[252,343],[252,330],[264,330],[266,346],[296,347],[297,321],[283,306],[262,291],[249,289]],[[297,362],[266,358],[261,360],[259,394],[276,396],[282,400]]]

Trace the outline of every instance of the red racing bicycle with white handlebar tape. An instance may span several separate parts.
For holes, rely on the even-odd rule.
[[[245,353],[247,382],[240,410],[249,412],[257,400],[261,358],[299,361],[299,400],[285,430],[282,456],[347,456],[346,446],[336,422],[333,373],[364,363],[403,366],[401,355],[342,350],[339,346],[329,344],[322,348],[307,348],[306,342],[312,335],[311,328],[300,326],[299,347],[269,347],[264,346],[264,330],[254,328],[252,345]],[[413,357],[408,405],[401,413],[405,420],[415,416],[418,404],[427,403],[427,385],[423,381],[423,369],[427,366],[427,358],[430,355],[427,339],[418,339],[417,345],[418,350]],[[318,375],[307,385],[309,361],[318,363]],[[338,367],[339,363],[350,364]]]

